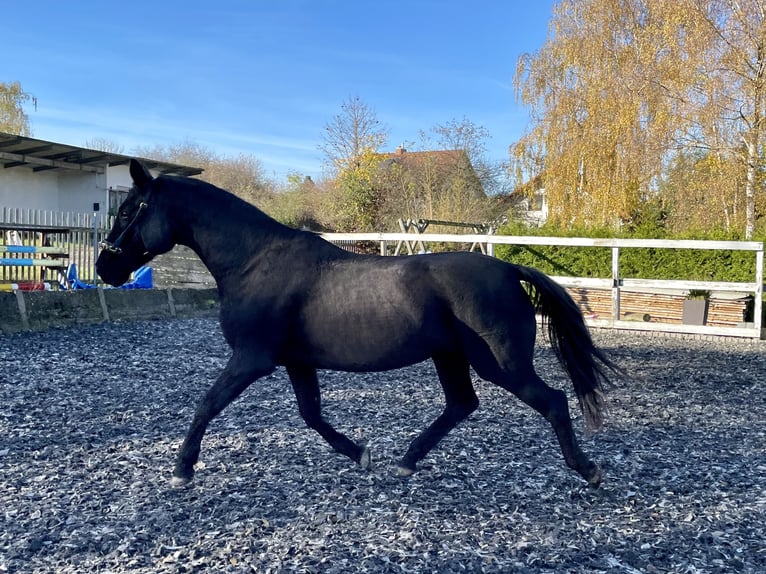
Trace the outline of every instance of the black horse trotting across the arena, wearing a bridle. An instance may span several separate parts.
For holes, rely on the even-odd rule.
[[[598,486],[601,472],[580,449],[564,392],[535,373],[535,313],[574,384],[586,423],[602,423],[602,383],[619,373],[597,349],[569,295],[543,273],[473,253],[355,255],[286,227],[202,181],[160,176],[130,163],[131,189],[96,263],[121,285],[176,244],[193,249],[218,285],[232,356],[200,401],[172,483],[194,476],[208,423],[253,381],[284,366],[306,424],[363,467],[367,447],[322,418],[317,369],[384,371],[431,359],[444,411],[399,462],[407,476],[478,406],[470,368],[545,417],[571,468]],[[527,290],[522,282],[528,285]]]

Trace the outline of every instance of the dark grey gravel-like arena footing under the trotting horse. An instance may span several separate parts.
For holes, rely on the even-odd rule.
[[[484,381],[479,410],[399,478],[443,405],[430,363],[321,373],[326,417],[370,446],[369,470],[305,427],[280,370],[213,421],[195,481],[173,489],[228,357],[215,320],[2,336],[0,572],[766,572],[764,343],[593,336],[631,375],[582,439],[598,490]]]

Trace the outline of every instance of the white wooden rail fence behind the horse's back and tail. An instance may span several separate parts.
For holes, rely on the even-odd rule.
[[[645,331],[663,331],[677,333],[694,333],[707,335],[724,335],[731,337],[766,338],[762,324],[763,282],[764,282],[764,247],[756,241],[694,241],[694,240],[662,240],[662,239],[591,239],[583,237],[530,237],[507,235],[456,235],[456,234],[422,234],[412,233],[325,233],[322,235],[328,241],[368,241],[380,245],[380,254],[388,255],[392,250],[400,251],[404,246],[408,253],[415,253],[429,243],[459,243],[466,246],[479,247],[489,255],[494,254],[495,245],[561,245],[569,247],[606,247],[612,250],[611,277],[553,277],[565,287],[581,287],[590,289],[608,289],[611,291],[612,313],[607,319],[587,319],[594,326],[615,329],[632,329]],[[721,281],[686,281],[662,279],[634,279],[623,277],[620,273],[620,251],[625,249],[654,248],[654,249],[700,249],[749,251],[755,254],[755,272],[753,280],[748,282]],[[753,322],[736,327],[720,327],[708,325],[685,325],[656,322],[636,322],[620,319],[620,295],[623,291],[652,291],[670,290],[685,294],[689,290],[700,289],[709,291],[727,291],[752,295]]]

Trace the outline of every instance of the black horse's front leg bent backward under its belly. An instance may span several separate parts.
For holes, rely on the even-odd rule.
[[[288,366],[287,374],[293,385],[295,398],[298,399],[298,410],[308,427],[317,431],[336,451],[345,454],[363,468],[368,468],[370,451],[367,447],[356,444],[322,418],[322,400],[316,369]]]

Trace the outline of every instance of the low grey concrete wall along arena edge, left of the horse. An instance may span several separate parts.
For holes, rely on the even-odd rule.
[[[212,316],[216,289],[83,289],[0,292],[0,334],[105,321]]]

